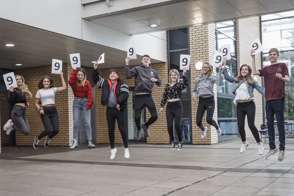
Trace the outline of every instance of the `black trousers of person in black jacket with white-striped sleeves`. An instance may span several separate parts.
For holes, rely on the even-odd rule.
[[[108,137],[110,142],[110,147],[115,148],[115,119],[117,121],[118,130],[121,133],[121,138],[123,139],[123,145],[125,148],[128,148],[128,133],[126,130],[126,123],[125,123],[125,109],[116,109],[116,107],[110,108],[107,107],[106,109],[106,119],[108,124]]]

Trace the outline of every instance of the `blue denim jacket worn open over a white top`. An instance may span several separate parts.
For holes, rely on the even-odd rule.
[[[234,95],[236,95],[235,91],[238,88],[238,86],[243,82],[243,79],[240,78],[239,82],[235,82],[235,78],[233,76],[229,76],[227,68],[223,69],[223,75],[225,77],[225,80],[229,81],[230,83],[233,83],[233,86],[230,88],[229,93],[233,93]],[[250,97],[254,97],[253,96],[254,88],[260,94],[262,94],[264,96],[264,88],[259,86],[257,81],[254,81],[253,84],[249,84],[249,83],[247,83],[247,80],[245,80],[245,83],[246,83],[247,90],[248,90],[248,93],[249,93]]]

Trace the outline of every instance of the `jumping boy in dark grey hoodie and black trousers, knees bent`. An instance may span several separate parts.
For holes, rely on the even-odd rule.
[[[157,86],[161,86],[161,80],[158,77],[158,73],[151,69],[151,61],[150,56],[144,55],[139,66],[134,67],[133,69],[129,69],[128,63],[131,60],[130,57],[126,58],[126,68],[125,74],[126,78],[130,79],[135,76],[135,123],[137,127],[137,131],[135,134],[136,140],[141,138],[141,128],[144,131],[146,137],[149,137],[149,126],[153,124],[157,118],[157,111],[155,103],[152,99],[151,93],[153,91],[153,83],[156,83]],[[141,113],[142,110],[146,106],[148,108],[151,118],[146,123],[141,123]]]

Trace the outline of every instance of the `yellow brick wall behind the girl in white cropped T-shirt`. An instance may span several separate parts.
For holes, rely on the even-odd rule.
[[[63,73],[64,80],[67,83],[71,73],[70,64],[63,64]],[[15,75],[21,75],[24,77],[26,85],[28,85],[30,92],[33,94],[33,97],[27,100],[30,105],[26,108],[26,117],[29,121],[30,134],[22,135],[21,133],[16,132],[16,145],[32,145],[34,137],[39,135],[44,130],[40,114],[36,111],[36,107],[34,106],[36,92],[38,91],[38,83],[43,76],[48,75],[53,79],[54,87],[60,87],[62,86],[61,78],[58,74],[51,74],[51,66],[19,69],[15,71]],[[59,115],[59,133],[51,140],[50,145],[69,146],[70,140],[73,138],[73,116],[71,104],[73,98],[73,93],[68,84],[65,91],[57,93],[55,96],[56,108]],[[40,145],[44,142],[45,138],[42,138]]]

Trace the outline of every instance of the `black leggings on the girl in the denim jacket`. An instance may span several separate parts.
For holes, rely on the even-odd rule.
[[[237,122],[239,128],[239,134],[242,142],[246,141],[245,133],[245,116],[247,115],[248,127],[256,140],[260,143],[259,133],[254,125],[255,120],[255,103],[253,101],[237,103]]]

